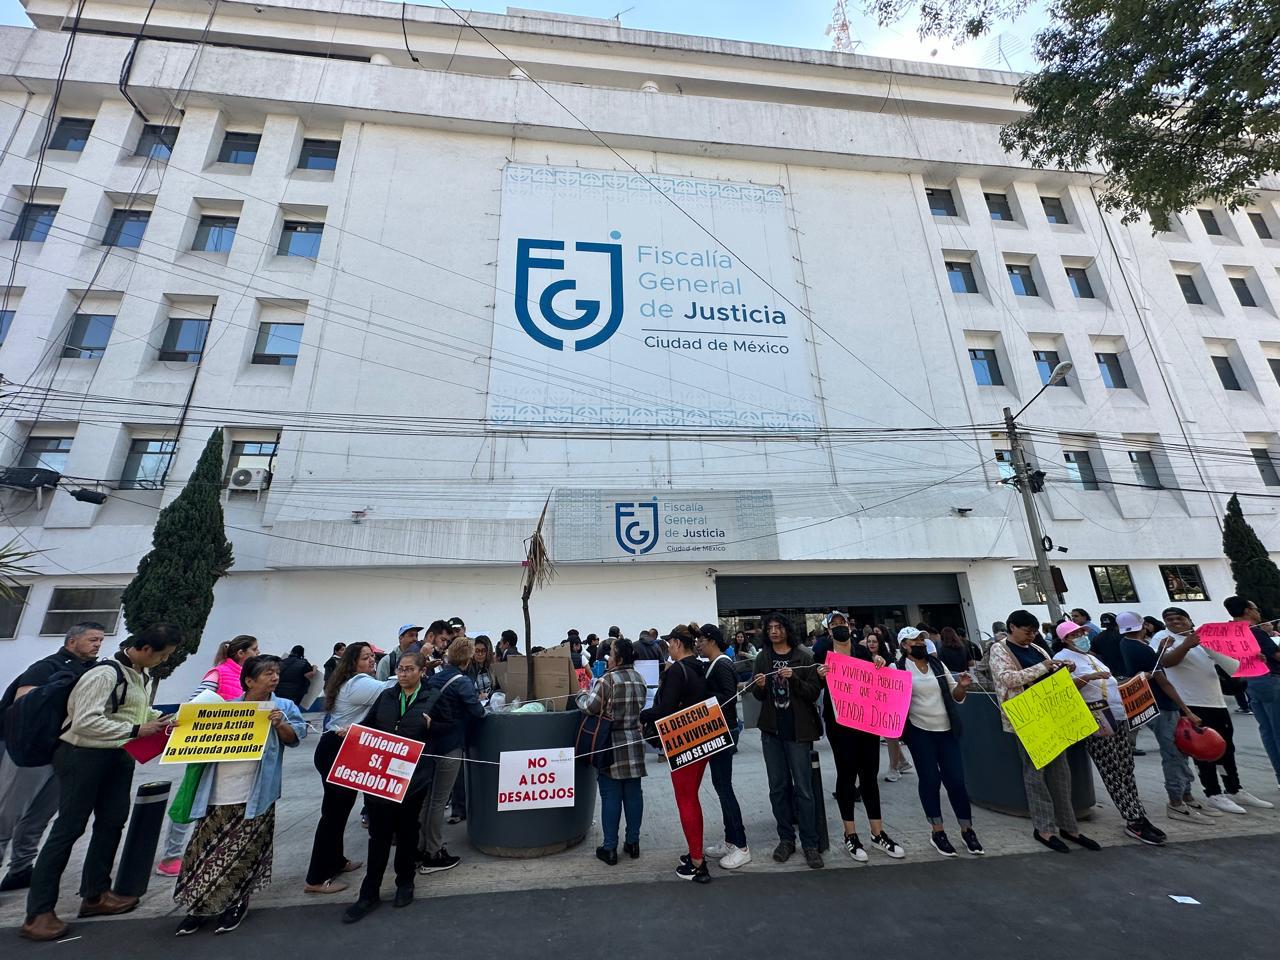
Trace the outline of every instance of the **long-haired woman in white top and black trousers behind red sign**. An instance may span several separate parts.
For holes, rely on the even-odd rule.
[[[383,691],[396,682],[375,680],[376,666],[378,660],[369,644],[348,644],[342,652],[338,667],[325,684],[325,732],[316,744],[312,760],[316,773],[320,774],[324,796],[320,800],[320,819],[316,822],[315,838],[311,841],[311,861],[307,864],[305,887],[307,893],[340,893],[347,884],[338,879],[338,876],[358,870],[362,865],[357,860],[348,860],[342,845],[347,818],[351,817],[351,808],[356,805],[358,791],[330,783],[325,778],[342,748],[342,737],[335,732],[337,728],[358,723]]]

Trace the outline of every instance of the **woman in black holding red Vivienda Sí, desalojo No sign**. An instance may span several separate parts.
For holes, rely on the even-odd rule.
[[[430,703],[422,685],[422,654],[403,653],[396,663],[396,686],[385,690],[370,708],[362,726],[384,733],[426,742],[431,727]],[[349,727],[335,730],[347,736]],[[379,890],[392,844],[396,844],[396,906],[413,902],[413,869],[417,867],[417,832],[422,801],[430,786],[426,763],[419,763],[410,778],[408,790],[401,803],[366,795],[369,805],[369,856],[365,882],[360,884],[360,899],[347,908],[343,923],[365,919],[379,905]]]

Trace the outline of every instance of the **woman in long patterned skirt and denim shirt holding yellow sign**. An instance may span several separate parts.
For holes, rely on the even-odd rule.
[[[182,855],[173,891],[187,916],[175,933],[195,933],[218,916],[215,933],[229,933],[248,913],[248,899],[271,882],[275,801],[280,799],[283,746],[297,746],[307,722],[292,700],[275,696],[279,657],[251,657],[241,669],[243,696],[236,703],[265,704],[271,731],[260,760],[207,763],[191,801],[200,826]]]

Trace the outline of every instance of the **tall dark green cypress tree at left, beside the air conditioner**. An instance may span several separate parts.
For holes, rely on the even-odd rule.
[[[214,607],[214,584],[234,562],[223,527],[221,479],[223,431],[218,429],[187,486],[156,517],[151,550],[124,590],[124,625],[131,635],[152,623],[182,630],[182,643],[156,676],[169,676],[200,649]]]

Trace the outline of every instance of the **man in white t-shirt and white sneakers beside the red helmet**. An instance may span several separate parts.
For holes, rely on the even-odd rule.
[[[1206,727],[1216,730],[1226,741],[1226,753],[1215,763],[1196,760],[1201,786],[1204,787],[1206,801],[1211,809],[1221,813],[1245,813],[1245,806],[1268,808],[1271,803],[1260,800],[1247,790],[1240,788],[1240,774],[1235,767],[1235,742],[1233,737],[1231,714],[1222,699],[1215,664],[1228,676],[1240,667],[1240,662],[1201,646],[1199,634],[1190,614],[1181,607],[1170,607],[1161,617],[1165,630],[1147,643],[1160,657],[1160,666],[1183,698]],[[1217,768],[1222,768],[1222,783],[1217,780]],[[1225,787],[1225,792],[1224,792]]]

